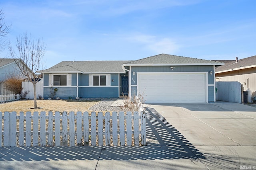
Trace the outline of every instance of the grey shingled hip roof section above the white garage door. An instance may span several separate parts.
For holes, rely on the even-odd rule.
[[[138,66],[138,65],[223,65],[224,63],[218,61],[210,61],[203,59],[195,59],[189,57],[181,57],[177,55],[160,54],[125,63],[124,66]]]

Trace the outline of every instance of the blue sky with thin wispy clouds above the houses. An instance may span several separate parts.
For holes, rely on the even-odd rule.
[[[61,61],[137,60],[161,53],[232,60],[256,55],[256,0],[0,0],[6,37],[46,43]],[[7,49],[0,53],[8,57]]]

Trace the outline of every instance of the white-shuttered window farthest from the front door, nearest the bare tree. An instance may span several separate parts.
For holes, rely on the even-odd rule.
[[[49,86],[71,86],[71,74],[49,74]]]

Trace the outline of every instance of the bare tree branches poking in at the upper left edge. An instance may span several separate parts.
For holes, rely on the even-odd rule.
[[[4,22],[4,12],[0,10],[0,51],[4,50],[6,41],[4,37],[10,32],[11,25],[7,25]]]

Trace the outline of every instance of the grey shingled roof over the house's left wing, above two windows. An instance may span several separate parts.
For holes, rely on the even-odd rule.
[[[43,72],[122,73],[122,64],[130,61],[62,61]]]

